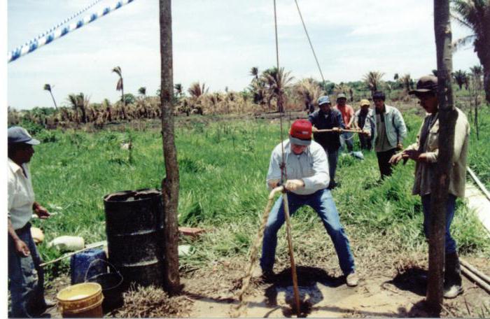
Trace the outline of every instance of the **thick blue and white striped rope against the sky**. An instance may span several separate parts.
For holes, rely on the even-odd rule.
[[[113,10],[117,10],[118,8],[125,6],[127,3],[131,3],[132,1],[134,0],[118,1],[117,3],[114,3],[113,6],[101,9],[97,11],[97,13],[92,13],[91,15],[85,16],[82,20],[78,20],[78,22],[71,23],[68,27],[57,29],[56,31],[46,36],[42,36],[41,38],[34,39],[34,41],[32,42],[26,43],[25,45],[22,45],[19,48],[16,48],[15,50],[8,52],[7,62],[8,63],[12,62],[18,59],[19,57],[22,57],[23,55],[27,55],[27,53],[30,53],[36,50],[37,48],[40,48],[43,45],[51,43],[52,41],[55,41],[57,38],[61,38],[62,36],[65,36],[69,32],[76,30],[80,27],[83,27],[85,24],[89,24],[90,22],[97,20],[97,18],[102,17]]]

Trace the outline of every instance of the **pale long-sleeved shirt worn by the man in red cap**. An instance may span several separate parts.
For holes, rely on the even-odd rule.
[[[311,145],[300,155],[293,153],[289,140],[283,141],[283,145],[287,174],[284,181],[288,179],[301,179],[304,181],[304,187],[300,190],[295,190],[295,194],[309,195],[327,187],[330,182],[328,160],[325,150],[323,150],[320,144],[311,141]],[[267,182],[269,180],[281,179],[281,163],[282,150],[281,143],[279,143],[272,151],[270,157]]]

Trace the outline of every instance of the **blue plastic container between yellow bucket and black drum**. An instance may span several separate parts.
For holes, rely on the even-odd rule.
[[[106,274],[106,261],[106,252],[101,248],[92,248],[71,256],[71,285],[85,283],[86,278]]]

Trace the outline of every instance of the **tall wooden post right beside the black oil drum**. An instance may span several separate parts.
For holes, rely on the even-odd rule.
[[[172,6],[171,0],[160,0],[160,99],[162,108],[163,156],[166,176],[162,180],[165,209],[164,285],[175,294],[181,290],[179,277],[179,164],[174,138],[174,74],[172,62]]]

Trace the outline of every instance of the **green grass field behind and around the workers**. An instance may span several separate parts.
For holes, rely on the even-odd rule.
[[[404,117],[409,130],[407,146],[414,141],[421,118],[411,111],[404,112]],[[489,120],[489,113],[484,113],[484,121]],[[287,119],[283,125],[288,127]],[[34,220],[45,232],[45,243],[61,235],[83,236],[86,243],[104,240],[104,195],[160,188],[165,171],[158,125],[142,122],[138,129],[121,126],[99,132],[36,132],[43,141],[36,146],[31,162],[36,199],[55,213],[48,221]],[[470,165],[488,185],[490,142],[482,136],[490,136],[489,125],[483,124],[481,129],[479,141],[472,136]],[[132,150],[121,148],[129,141]],[[246,259],[267,200],[265,175],[270,152],[279,141],[279,120],[197,116],[176,128],[181,176],[179,222],[208,230],[192,243],[195,253],[181,258],[182,269],[191,271],[223,260]],[[334,190],[333,196],[356,259],[427,250],[420,199],[411,194],[412,162],[399,165],[381,185],[376,183],[379,171],[374,153],[365,153],[363,161],[341,156],[337,171],[342,187]],[[484,230],[459,200],[452,231],[460,253],[490,257]],[[277,251],[278,258],[286,261],[283,237]],[[335,267],[330,240],[310,208],[295,214],[293,241],[298,264],[324,267],[332,262]],[[44,260],[60,255],[45,243],[40,247]],[[54,264],[48,274],[67,271],[68,264],[69,260]]]

